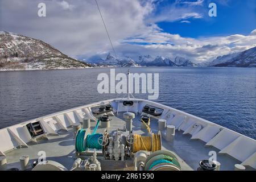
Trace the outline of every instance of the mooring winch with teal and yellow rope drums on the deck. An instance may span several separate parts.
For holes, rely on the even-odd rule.
[[[99,123],[108,122],[108,115],[103,115],[98,118],[96,127],[93,133],[90,134],[90,130],[80,129],[77,131],[75,148],[78,155],[82,153],[86,154],[86,150],[96,149],[102,150],[102,155],[106,160],[127,160],[131,159],[132,155],[138,151],[154,152],[161,150],[162,137],[161,133],[151,133],[149,123],[150,118],[143,116],[142,123],[148,131],[148,135],[142,136],[134,134],[131,130],[132,118],[134,113],[124,113],[126,123],[128,123],[129,130],[124,129],[113,131],[108,133],[108,129],[105,129],[103,134],[96,133]],[[146,122],[145,122],[146,121]]]

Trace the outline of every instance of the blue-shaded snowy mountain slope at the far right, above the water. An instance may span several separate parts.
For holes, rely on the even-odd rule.
[[[256,47],[240,53],[219,56],[209,66],[213,67],[256,67]]]

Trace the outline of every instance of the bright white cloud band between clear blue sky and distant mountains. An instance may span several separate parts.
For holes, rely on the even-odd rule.
[[[253,31],[254,32],[254,31]],[[256,30],[255,30],[256,32]],[[179,35],[173,35],[161,32],[160,30],[152,32],[154,35],[142,35],[134,39],[134,42],[151,43],[147,44],[137,51],[144,54],[167,57],[183,56],[197,63],[215,59],[217,56],[228,53],[245,51],[256,45],[256,35],[230,35],[210,38],[183,38]],[[130,41],[133,41],[131,39]],[[146,49],[146,50],[145,50]],[[135,51],[133,52],[135,55]]]

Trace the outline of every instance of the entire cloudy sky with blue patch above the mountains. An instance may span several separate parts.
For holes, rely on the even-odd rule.
[[[255,0],[97,0],[115,52],[196,63],[256,46]],[[46,4],[46,17],[38,4]],[[217,17],[208,15],[209,3]],[[0,30],[43,40],[69,56],[112,52],[95,0],[0,0]]]

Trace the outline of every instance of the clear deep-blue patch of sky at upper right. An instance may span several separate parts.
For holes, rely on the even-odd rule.
[[[195,2],[195,1],[188,1]],[[217,17],[209,17],[208,5],[214,2],[217,5]],[[254,0],[238,1],[204,1],[200,6],[199,12],[203,14],[202,18],[188,18],[191,23],[158,22],[158,26],[164,32],[170,34],[179,34],[184,37],[198,38],[200,36],[224,36],[232,34],[248,35],[256,27],[255,3]],[[174,1],[162,1],[158,5],[170,6]]]

